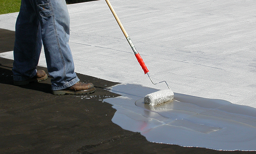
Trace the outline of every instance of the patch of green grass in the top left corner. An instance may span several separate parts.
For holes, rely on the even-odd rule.
[[[0,0],[0,14],[19,12],[21,0]]]

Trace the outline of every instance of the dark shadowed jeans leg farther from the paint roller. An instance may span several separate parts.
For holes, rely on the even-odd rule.
[[[36,66],[41,49],[41,27],[37,14],[29,1],[22,0],[16,21],[13,49],[14,62],[12,72],[14,84],[22,85],[25,83],[22,83],[22,81],[29,80],[36,75]]]

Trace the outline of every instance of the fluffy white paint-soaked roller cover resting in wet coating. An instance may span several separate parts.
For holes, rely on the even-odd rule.
[[[154,93],[150,93],[144,97],[144,103],[155,106],[158,104],[162,104],[167,101],[173,100],[174,93],[172,90],[159,90]]]

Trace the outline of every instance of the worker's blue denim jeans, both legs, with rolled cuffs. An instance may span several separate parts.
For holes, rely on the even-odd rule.
[[[79,79],[68,45],[70,17],[65,0],[21,0],[13,49],[13,80],[36,75],[42,44],[52,90],[74,85]]]

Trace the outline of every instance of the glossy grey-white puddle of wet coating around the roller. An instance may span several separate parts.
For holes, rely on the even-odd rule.
[[[144,104],[146,94],[158,91],[135,84],[119,84],[104,99],[117,110],[112,122],[140,132],[148,141],[215,150],[256,150],[256,109],[225,100],[174,93],[174,100]]]

